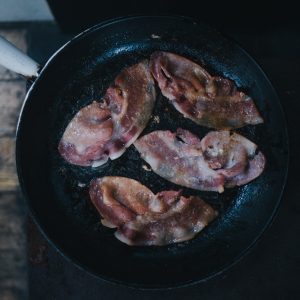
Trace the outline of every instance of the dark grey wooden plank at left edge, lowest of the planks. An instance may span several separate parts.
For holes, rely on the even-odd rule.
[[[27,292],[26,209],[20,193],[0,193],[0,299]]]

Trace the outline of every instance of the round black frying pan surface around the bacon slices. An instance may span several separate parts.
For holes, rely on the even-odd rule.
[[[202,196],[220,216],[195,239],[164,247],[129,247],[103,227],[88,197],[94,177],[134,178],[153,192],[179,189],[142,168],[134,147],[99,168],[66,163],[58,142],[74,114],[100,99],[123,68],[155,50],[184,55],[212,74],[235,81],[256,101],[265,123],[241,130],[267,158],[255,181],[219,195]],[[208,129],[183,118],[159,94],[144,133],[183,127],[202,137]],[[216,31],[184,17],[130,17],[96,25],[62,47],[42,68],[29,90],[17,129],[20,184],[37,224],[59,251],[103,279],[142,288],[167,288],[207,280],[238,261],[271,223],[288,165],[286,124],[278,97],[255,61]],[[84,186],[85,185],[85,186]]]

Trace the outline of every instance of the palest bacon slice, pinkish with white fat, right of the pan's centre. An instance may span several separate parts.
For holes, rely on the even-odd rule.
[[[178,129],[154,131],[134,146],[161,177],[185,187],[222,193],[224,187],[246,184],[265,166],[257,146],[229,131],[213,131],[202,141],[191,132]]]

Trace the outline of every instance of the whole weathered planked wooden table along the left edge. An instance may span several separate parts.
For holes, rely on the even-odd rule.
[[[0,29],[27,50],[26,29]],[[15,129],[25,96],[25,80],[0,66],[0,299],[27,295],[26,206],[15,167]]]

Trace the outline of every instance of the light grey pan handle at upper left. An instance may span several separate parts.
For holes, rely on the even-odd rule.
[[[39,64],[0,36],[0,65],[25,77],[37,77]]]

